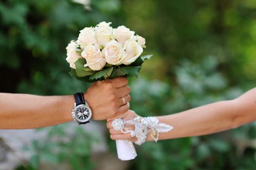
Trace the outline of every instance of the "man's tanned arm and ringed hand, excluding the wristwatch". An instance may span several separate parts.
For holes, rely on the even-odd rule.
[[[127,84],[126,78],[92,84],[84,94],[92,110],[92,119],[104,120],[128,111],[130,88]],[[73,95],[0,93],[0,129],[30,129],[72,121],[73,103]]]

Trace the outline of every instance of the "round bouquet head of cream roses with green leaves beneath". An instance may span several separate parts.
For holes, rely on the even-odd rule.
[[[110,27],[101,22],[80,31],[67,49],[67,62],[73,78],[96,82],[120,76],[138,77],[141,65],[152,55],[141,56],[145,38],[125,26]]]

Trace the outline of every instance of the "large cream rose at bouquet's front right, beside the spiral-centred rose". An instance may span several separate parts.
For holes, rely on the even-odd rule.
[[[126,57],[124,57],[122,63],[125,65],[133,63],[143,52],[143,48],[134,40],[128,40],[124,49]]]

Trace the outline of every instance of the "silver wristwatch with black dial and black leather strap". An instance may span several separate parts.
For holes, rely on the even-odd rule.
[[[74,108],[72,109],[72,117],[79,125],[89,123],[91,120],[92,112],[88,103],[84,99],[84,94],[74,94]]]

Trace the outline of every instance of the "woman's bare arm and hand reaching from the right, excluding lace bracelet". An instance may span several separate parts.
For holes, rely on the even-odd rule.
[[[137,115],[128,111],[118,117],[133,119]],[[231,101],[215,102],[177,114],[157,117],[160,122],[172,125],[174,129],[168,133],[161,133],[159,139],[171,139],[187,136],[201,136],[237,128],[243,124],[256,120],[256,88],[246,92],[239,98]],[[111,138],[136,141],[129,134],[122,134],[111,127]],[[147,140],[153,140],[147,137]]]

